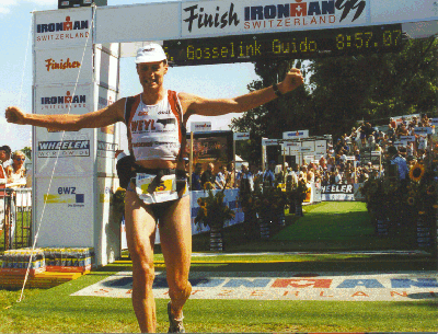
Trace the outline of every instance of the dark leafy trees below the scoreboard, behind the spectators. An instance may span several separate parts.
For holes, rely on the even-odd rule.
[[[232,128],[251,133],[251,157],[258,162],[262,137],[309,129],[311,135],[336,138],[360,119],[380,125],[391,116],[427,113],[430,117],[438,102],[437,55],[438,42],[431,37],[406,41],[400,53],[257,61],[261,80],[250,83],[250,90],[283,80],[292,65],[302,69],[306,84],[234,118]]]

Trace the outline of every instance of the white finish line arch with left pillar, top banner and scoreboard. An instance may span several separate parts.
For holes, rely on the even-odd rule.
[[[145,41],[162,43],[174,66],[311,58],[394,50],[402,33],[438,33],[436,20],[433,0],[174,1],[34,12],[33,112],[84,114],[114,103],[120,58]],[[118,125],[33,129],[34,226],[44,220],[38,246],[92,246],[97,265],[118,256],[110,205],[119,136]]]

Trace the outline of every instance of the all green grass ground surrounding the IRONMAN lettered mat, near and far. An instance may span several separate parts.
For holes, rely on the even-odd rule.
[[[238,224],[224,231],[227,252],[295,252],[194,256],[192,272],[376,272],[436,269],[428,255],[330,254],[348,250],[385,250],[396,242],[377,239],[360,203],[323,203],[304,207],[304,217],[287,215],[269,241],[252,240],[256,230]],[[330,211],[331,214],[326,214]],[[246,234],[243,234],[246,232]],[[241,233],[241,234],[239,234]],[[243,237],[242,237],[243,235]],[[194,238],[194,247],[208,251],[209,235]],[[400,243],[400,242],[399,242]],[[158,249],[159,250],[159,249]],[[154,256],[164,270],[162,254]],[[0,290],[0,333],[138,332],[130,299],[70,295],[117,272],[131,270],[122,261],[48,290]],[[166,300],[157,300],[158,332],[168,331]],[[435,332],[438,299],[385,301],[189,300],[184,309],[189,332]]]

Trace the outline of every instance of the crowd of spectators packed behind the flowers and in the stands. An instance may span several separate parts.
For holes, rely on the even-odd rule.
[[[376,127],[367,122],[357,128],[353,127],[349,134],[344,134],[330,143],[326,153],[318,157],[318,161],[303,160],[300,164],[290,166],[286,163],[285,170],[283,165],[270,161],[264,172],[261,166],[247,163],[243,163],[241,169],[234,172],[234,166],[230,163],[221,165],[220,172],[215,174],[214,163],[209,163],[204,172],[198,163],[192,175],[192,189],[204,189],[207,182],[212,188],[249,186],[253,189],[254,183],[257,182],[272,185],[285,183],[287,175],[292,176],[293,183],[300,180],[322,185],[364,183],[371,176],[379,177],[389,173],[388,162],[396,165],[399,178],[404,180],[411,166],[427,159],[430,145],[430,135],[415,130],[418,127],[430,126],[427,115],[406,118],[391,118],[388,126]],[[374,152],[380,152],[380,157]],[[231,180],[234,175],[235,181]]]

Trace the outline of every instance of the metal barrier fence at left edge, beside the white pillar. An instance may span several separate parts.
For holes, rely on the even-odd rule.
[[[32,245],[32,188],[0,191],[0,251]]]

